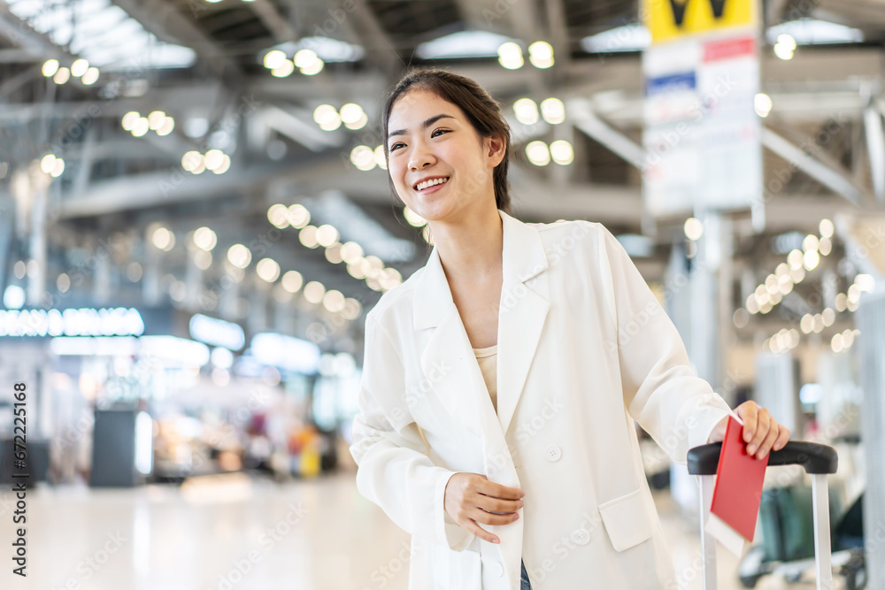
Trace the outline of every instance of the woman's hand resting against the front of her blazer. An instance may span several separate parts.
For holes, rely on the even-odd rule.
[[[445,511],[462,528],[491,543],[501,542],[483,529],[483,525],[509,525],[519,518],[521,498],[519,487],[496,484],[479,473],[456,473],[445,487]],[[491,514],[500,512],[502,514]]]

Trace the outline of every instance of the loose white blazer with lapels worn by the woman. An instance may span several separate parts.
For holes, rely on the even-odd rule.
[[[358,490],[412,534],[410,590],[519,590],[520,558],[534,590],[675,590],[633,420],[684,464],[729,408],[604,226],[498,212],[497,412],[434,248],[366,315]],[[445,512],[458,471],[526,492],[500,544]]]

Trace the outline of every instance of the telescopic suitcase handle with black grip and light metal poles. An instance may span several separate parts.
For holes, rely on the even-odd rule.
[[[716,468],[719,465],[721,442],[689,450],[689,473],[697,476],[701,504],[701,548],[704,554],[704,590],[716,587],[716,540],[704,531],[710,514]],[[838,456],[835,449],[812,442],[790,441],[779,451],[768,456],[768,466],[802,465],[812,475],[813,543],[818,590],[833,588],[833,570],[830,548],[829,492],[827,474],[835,473]]]

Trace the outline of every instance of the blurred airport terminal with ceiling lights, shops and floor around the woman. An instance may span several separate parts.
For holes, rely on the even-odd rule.
[[[698,377],[837,453],[823,508],[769,466],[718,587],[885,590],[885,0],[0,0],[0,587],[409,587],[350,452],[366,316],[435,248],[409,68],[500,104],[512,217],[602,224]],[[635,435],[710,588],[698,479]]]

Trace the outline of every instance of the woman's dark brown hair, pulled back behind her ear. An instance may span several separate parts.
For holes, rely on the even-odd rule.
[[[390,151],[387,142],[389,133],[388,122],[390,111],[394,103],[412,90],[427,90],[444,101],[457,106],[466,116],[467,120],[481,137],[503,137],[504,159],[495,166],[492,172],[492,180],[495,186],[495,204],[498,209],[508,215],[512,215],[510,182],[507,180],[507,169],[510,165],[510,125],[504,119],[501,112],[501,104],[498,103],[485,88],[476,81],[438,68],[418,69],[407,71],[403,78],[396,82],[396,86],[390,89],[384,101],[384,111],[381,113],[381,121],[384,141],[384,158],[390,161]],[[393,180],[390,186],[396,195]]]

